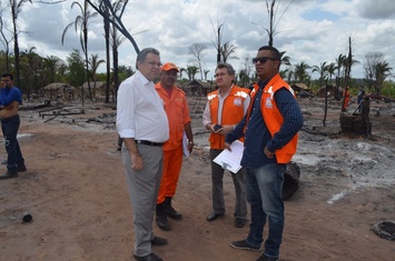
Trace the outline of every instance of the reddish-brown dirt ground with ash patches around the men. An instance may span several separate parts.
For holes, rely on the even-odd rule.
[[[371,231],[374,223],[395,221],[395,104],[372,102],[375,140],[366,140],[338,134],[339,102],[329,102],[326,127],[322,99],[299,102],[305,127],[294,160],[300,187],[285,202],[280,260],[395,260],[395,241]],[[261,253],[229,245],[248,232],[248,225],[234,225],[230,174],[225,175],[226,215],[206,221],[211,211],[208,133],[201,108],[191,107],[197,145],[184,161],[174,201],[184,218],[170,220],[167,232],[154,223],[156,234],[169,241],[154,251],[166,261],[256,260]],[[349,112],[355,108],[352,103]],[[83,110],[69,116],[53,114],[55,108],[20,112],[28,171],[0,181],[0,260],[132,260],[132,214],[117,150],[116,111],[98,103]],[[22,223],[24,212],[32,222]]]

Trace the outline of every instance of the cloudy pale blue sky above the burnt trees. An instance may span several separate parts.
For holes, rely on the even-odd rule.
[[[21,50],[36,47],[40,56],[58,56],[66,60],[72,48],[80,49],[79,34],[73,30],[67,33],[65,46],[60,41],[66,26],[79,14],[77,9],[71,10],[71,0],[56,6],[26,3],[20,14],[20,28],[27,32],[19,37]],[[359,61],[353,68],[353,77],[364,77],[363,63],[368,52],[385,53],[385,60],[395,69],[393,0],[294,0],[286,12],[289,0],[279,3],[274,46],[286,51],[293,66],[302,61],[309,66],[335,62],[339,54],[346,54],[350,37],[354,58]],[[246,57],[255,57],[257,49],[268,42],[264,29],[268,27],[268,18],[263,0],[129,1],[122,21],[132,34],[144,31],[135,34],[140,49],[157,48],[162,62],[171,61],[178,67],[191,64],[189,46],[207,43],[203,63],[204,70],[210,70],[208,79],[216,64],[216,49],[211,42],[218,24],[224,23],[224,42],[237,47],[235,56],[239,59],[229,60],[237,71],[246,67]],[[105,59],[99,18],[90,24],[88,49],[89,54],[98,53]],[[134,68],[136,52],[128,40],[119,49],[119,61]],[[105,66],[99,70],[105,71]]]

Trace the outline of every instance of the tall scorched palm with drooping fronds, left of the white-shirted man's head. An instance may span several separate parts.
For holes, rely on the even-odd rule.
[[[76,29],[76,32],[79,30],[80,31],[80,43],[82,48],[82,52],[85,54],[85,66],[86,66],[86,71],[87,71],[87,80],[88,80],[88,90],[89,90],[89,97],[90,100],[92,100],[92,93],[90,91],[90,83],[89,83],[89,60],[88,60],[88,24],[89,20],[95,18],[98,13],[97,12],[90,12],[89,10],[89,4],[87,1],[83,1],[83,7],[77,2],[73,1],[71,3],[71,9],[77,6],[81,14],[76,17],[76,20],[73,22],[70,22],[63,30],[63,33],[61,34],[61,43],[63,44],[65,42],[65,36],[67,31],[73,26]],[[82,106],[83,106],[83,88],[82,88]]]

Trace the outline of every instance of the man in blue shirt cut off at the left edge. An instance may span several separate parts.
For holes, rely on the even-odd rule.
[[[4,135],[7,159],[7,172],[0,179],[18,177],[18,171],[26,171],[24,159],[17,140],[20,126],[18,114],[19,104],[22,103],[22,93],[13,86],[11,73],[3,73],[0,81],[0,120]]]

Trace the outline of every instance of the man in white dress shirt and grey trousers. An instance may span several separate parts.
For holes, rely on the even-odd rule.
[[[152,220],[162,172],[162,143],[169,139],[164,102],[154,82],[160,70],[159,51],[146,48],[137,56],[137,72],[119,87],[117,130],[124,140],[122,160],[134,211],[138,261],[160,261],[151,245],[165,245],[155,237]]]

